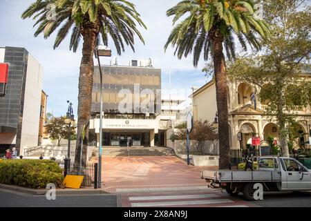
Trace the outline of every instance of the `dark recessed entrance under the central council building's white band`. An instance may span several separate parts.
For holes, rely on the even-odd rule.
[[[104,146],[150,146],[147,133],[104,133]]]

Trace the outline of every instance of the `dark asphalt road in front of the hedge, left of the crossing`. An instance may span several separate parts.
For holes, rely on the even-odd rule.
[[[117,195],[56,195],[46,200],[45,195],[30,195],[0,189],[0,207],[116,207]]]

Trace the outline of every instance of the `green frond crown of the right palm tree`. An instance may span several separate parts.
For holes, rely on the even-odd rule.
[[[194,54],[194,66],[198,65],[201,53],[205,61],[209,54],[213,56],[213,38],[223,37],[225,51],[229,59],[236,57],[234,35],[244,50],[247,44],[259,50],[261,42],[256,34],[263,39],[269,35],[267,23],[256,17],[254,1],[224,1],[224,0],[186,0],[180,1],[167,11],[167,16],[173,16],[173,28],[165,49],[171,44],[175,55],[181,59],[191,52]]]

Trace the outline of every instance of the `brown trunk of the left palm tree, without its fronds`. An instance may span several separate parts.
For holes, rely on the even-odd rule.
[[[82,162],[86,163],[87,146],[88,146],[88,128],[91,117],[91,102],[93,90],[93,73],[94,73],[94,50],[98,32],[94,24],[88,23],[88,27],[82,30],[83,48],[82,61],[79,74],[79,103],[78,103],[78,122],[77,122],[77,144],[75,148],[75,162],[79,162],[82,148]],[[82,128],[85,126],[85,137],[81,147]]]

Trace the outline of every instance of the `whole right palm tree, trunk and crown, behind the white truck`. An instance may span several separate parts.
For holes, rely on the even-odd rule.
[[[220,169],[229,166],[229,126],[227,106],[227,75],[223,46],[229,59],[235,58],[235,40],[240,41],[244,50],[247,43],[256,50],[261,48],[261,39],[267,39],[270,31],[265,21],[254,15],[254,1],[225,0],[185,0],[167,11],[173,16],[173,25],[182,18],[172,30],[165,50],[171,44],[176,48],[178,59],[194,54],[194,66],[198,66],[201,52],[205,61],[209,54],[214,60],[216,99],[218,108],[218,135]]]

